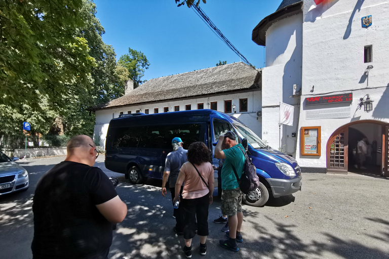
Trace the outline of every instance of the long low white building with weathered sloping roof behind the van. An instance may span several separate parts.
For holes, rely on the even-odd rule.
[[[261,72],[242,63],[150,79],[103,105],[96,112],[94,141],[105,148],[109,121],[127,113],[161,113],[213,109],[229,113],[261,136]]]

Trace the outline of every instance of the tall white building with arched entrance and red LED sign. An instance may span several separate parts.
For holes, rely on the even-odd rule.
[[[387,173],[388,13],[383,0],[284,0],[254,28],[253,41],[266,46],[262,138],[272,147],[281,138],[303,171],[363,172],[355,152],[367,137],[367,171]],[[281,134],[280,102],[295,111]]]

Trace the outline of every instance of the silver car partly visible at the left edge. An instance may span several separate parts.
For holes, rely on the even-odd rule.
[[[28,189],[28,172],[0,151],[0,195]]]

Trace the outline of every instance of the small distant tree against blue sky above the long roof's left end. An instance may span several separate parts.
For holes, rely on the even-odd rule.
[[[130,73],[130,78],[134,81],[134,88],[139,87],[145,81],[140,78],[144,76],[144,70],[148,69],[150,63],[146,56],[140,52],[128,48],[129,54],[124,54],[119,59],[119,64],[126,67]]]

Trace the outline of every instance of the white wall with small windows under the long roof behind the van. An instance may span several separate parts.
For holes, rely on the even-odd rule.
[[[248,102],[247,112],[239,112],[239,99],[245,99],[245,98],[247,98],[247,102]],[[154,108],[158,108],[159,113],[162,113],[164,112],[164,107],[169,107],[169,112],[173,112],[174,106],[177,105],[180,106],[180,111],[184,111],[185,105],[188,104],[191,105],[192,110],[196,110],[198,103],[204,103],[204,109],[210,109],[211,102],[217,102],[217,110],[224,112],[224,101],[228,101],[228,100],[232,100],[232,104],[236,105],[235,111],[237,113],[234,114],[230,113],[230,114],[239,118],[244,124],[248,125],[255,134],[261,137],[262,135],[261,119],[260,118],[256,119],[256,113],[257,111],[261,110],[261,106],[262,106],[261,91],[220,95],[220,96],[204,97],[204,98],[188,99],[188,100],[178,100],[178,101],[171,101],[171,102],[161,102],[161,103],[145,104],[139,106],[124,106],[121,108],[98,110],[96,111],[96,125],[95,125],[94,136],[99,136],[100,146],[104,149],[109,121],[113,118],[113,116],[115,118],[118,118],[120,112],[124,112],[124,114],[127,114],[128,111],[135,113],[136,110],[140,110],[140,112],[144,112],[145,109],[149,109],[149,114],[152,114],[154,113]],[[96,142],[96,137],[95,137],[95,142]]]

